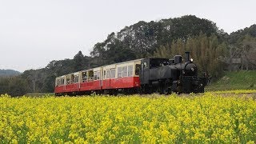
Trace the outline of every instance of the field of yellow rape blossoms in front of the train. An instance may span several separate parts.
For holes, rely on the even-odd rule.
[[[0,98],[0,143],[255,143],[255,94],[238,93],[5,94]]]

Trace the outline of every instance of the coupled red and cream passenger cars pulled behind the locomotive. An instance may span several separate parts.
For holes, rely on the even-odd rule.
[[[82,70],[56,78],[56,95],[90,94],[91,92],[116,94],[127,93],[140,86],[139,70],[141,59]]]

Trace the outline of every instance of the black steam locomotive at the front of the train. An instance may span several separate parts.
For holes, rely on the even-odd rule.
[[[203,93],[206,86],[206,78],[198,77],[198,67],[190,61],[189,52],[185,62],[181,55],[142,59],[140,82],[142,94]]]

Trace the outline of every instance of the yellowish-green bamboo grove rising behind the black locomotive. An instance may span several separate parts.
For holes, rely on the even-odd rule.
[[[218,78],[223,71],[223,58],[226,56],[227,46],[224,42],[218,42],[215,34],[207,37],[206,34],[199,34],[187,41],[178,39],[172,42],[171,46],[160,46],[154,51],[154,57],[173,58],[174,55],[185,57],[185,51],[190,51],[191,58],[198,66],[199,73],[206,72],[214,78]]]

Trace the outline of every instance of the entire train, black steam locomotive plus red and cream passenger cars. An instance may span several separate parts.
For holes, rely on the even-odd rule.
[[[174,59],[142,58],[62,75],[55,80],[54,93],[203,93],[205,86],[206,78],[198,77],[198,67],[186,52],[184,62],[181,55]]]

